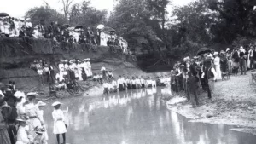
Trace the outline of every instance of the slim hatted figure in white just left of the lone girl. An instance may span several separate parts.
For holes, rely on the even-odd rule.
[[[48,140],[48,134],[47,134],[47,130],[46,130],[46,125],[44,124],[44,106],[46,105],[46,103],[44,103],[43,101],[38,101],[38,118],[42,124],[42,129],[44,129],[44,139],[47,141]]]

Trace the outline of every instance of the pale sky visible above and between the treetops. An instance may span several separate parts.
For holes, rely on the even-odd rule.
[[[45,2],[49,3],[49,6],[53,9],[61,11],[61,0],[0,0],[0,13],[8,13],[12,17],[22,18],[26,11],[34,7],[40,7],[45,5]],[[91,6],[96,9],[113,9],[114,0],[91,0]],[[183,6],[194,0],[172,0],[172,4],[175,6]],[[81,3],[83,0],[73,0],[73,3]],[[171,11],[172,8],[168,7]]]

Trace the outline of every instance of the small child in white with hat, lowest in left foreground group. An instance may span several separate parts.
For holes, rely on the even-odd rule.
[[[29,144],[32,141],[32,136],[27,130],[26,119],[17,118],[16,121],[19,123],[16,144]]]

